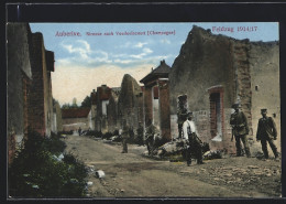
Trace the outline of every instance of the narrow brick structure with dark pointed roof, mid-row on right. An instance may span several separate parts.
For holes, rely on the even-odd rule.
[[[169,82],[170,67],[161,61],[161,64],[152,69],[140,82],[144,84],[144,118],[145,127],[155,125],[165,141],[170,136],[170,111],[169,111]]]

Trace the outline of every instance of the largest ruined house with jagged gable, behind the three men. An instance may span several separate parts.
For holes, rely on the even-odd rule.
[[[229,125],[234,103],[241,104],[248,117],[252,151],[260,148],[255,135],[261,108],[268,109],[279,133],[278,50],[277,42],[235,40],[194,26],[169,73],[172,137],[177,137],[177,96],[183,94],[199,137],[212,149],[234,150]]]

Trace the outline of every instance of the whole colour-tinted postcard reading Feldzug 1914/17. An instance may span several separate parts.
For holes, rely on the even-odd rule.
[[[280,197],[278,31],[8,22],[9,198]]]

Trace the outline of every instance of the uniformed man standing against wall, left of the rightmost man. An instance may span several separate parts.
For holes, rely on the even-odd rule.
[[[232,127],[232,136],[235,137],[235,147],[237,147],[237,157],[241,157],[242,148],[241,148],[241,141],[244,146],[246,157],[251,157],[249,141],[246,136],[249,135],[249,125],[248,119],[243,111],[240,110],[241,106],[240,104],[232,105],[232,108],[235,110],[234,114],[230,117],[230,125]],[[233,138],[231,138],[231,141]]]

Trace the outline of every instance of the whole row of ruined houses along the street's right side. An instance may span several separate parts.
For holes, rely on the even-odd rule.
[[[140,80],[144,86],[127,74],[119,88],[94,89],[84,128],[105,133],[122,128],[123,120],[133,130],[140,122],[144,128],[153,124],[169,141],[178,137],[178,96],[186,95],[198,136],[211,149],[234,152],[229,120],[232,104],[240,103],[250,126],[251,149],[258,151],[261,108],[268,109],[280,132],[278,56],[278,42],[235,40],[194,26],[172,67],[161,61]]]

